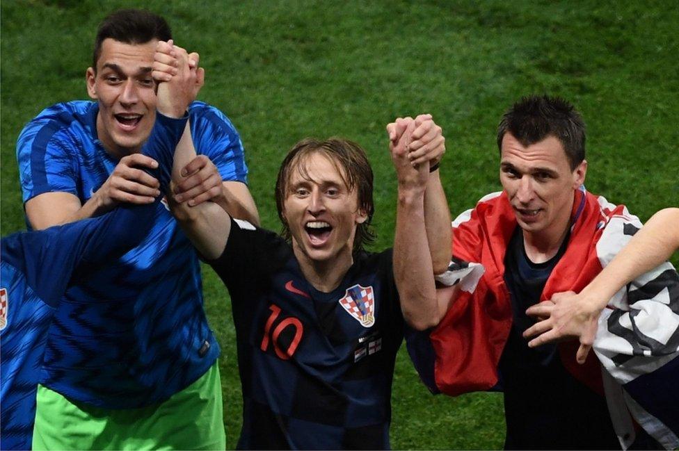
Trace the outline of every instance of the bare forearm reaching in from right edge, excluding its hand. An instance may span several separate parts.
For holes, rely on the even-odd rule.
[[[679,247],[679,208],[653,215],[581,295],[593,309],[603,309],[623,286],[660,265]]]

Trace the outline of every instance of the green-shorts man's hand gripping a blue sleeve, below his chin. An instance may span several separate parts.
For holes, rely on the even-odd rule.
[[[93,195],[97,202],[97,213],[109,211],[120,202],[152,204],[160,195],[160,184],[142,167],[154,169],[158,163],[142,154],[131,154],[120,159],[109,178]]]

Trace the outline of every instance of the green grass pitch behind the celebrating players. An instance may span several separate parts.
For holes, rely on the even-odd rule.
[[[642,4],[644,3],[644,4]],[[362,144],[376,175],[376,249],[393,238],[396,183],[384,127],[432,113],[447,138],[442,179],[454,214],[499,190],[495,126],[522,95],[572,101],[588,125],[587,188],[646,220],[679,204],[679,10],[672,1],[97,1],[1,3],[1,213],[24,228],[14,147],[57,101],[86,98],[98,22],[144,6],[200,52],[200,99],[221,108],[246,146],[264,227],[278,230],[273,183],[305,136]],[[675,254],[673,263],[679,259]],[[205,268],[206,308],[223,347],[227,446],[241,423],[227,294]],[[401,351],[392,446],[501,448],[502,397],[433,397]]]

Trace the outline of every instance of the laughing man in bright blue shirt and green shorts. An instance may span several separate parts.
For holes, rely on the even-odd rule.
[[[26,125],[17,158],[34,229],[159,195],[159,182],[142,171],[155,163],[139,150],[156,116],[155,46],[170,38],[157,15],[113,13],[99,26],[86,72],[95,101],[51,106]],[[237,131],[202,102],[189,117],[200,155],[186,162],[189,177],[174,195],[192,204],[209,197],[256,223]],[[140,245],[67,289],[49,328],[35,447],[223,448],[218,354],[198,257],[157,204]]]

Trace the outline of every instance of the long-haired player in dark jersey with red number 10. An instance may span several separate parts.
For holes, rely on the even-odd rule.
[[[158,72],[173,65],[162,45],[156,58]],[[424,215],[425,204],[438,200],[439,211],[447,211],[436,166],[440,128],[428,116],[406,122],[403,138],[392,145],[399,208]],[[190,141],[177,147],[175,167],[191,158],[193,149],[184,143]],[[278,172],[284,236],[234,220],[214,204],[170,202],[231,295],[243,390],[238,448],[389,447],[394,359],[404,315],[418,306],[410,296],[399,297],[392,251],[365,252],[372,239],[372,182],[358,145],[307,139],[289,151]],[[442,218],[438,227],[449,231],[449,218]],[[426,233],[424,240],[429,254]],[[447,250],[442,254],[401,270],[433,277],[437,265],[447,265]]]

